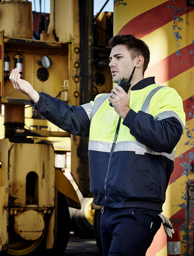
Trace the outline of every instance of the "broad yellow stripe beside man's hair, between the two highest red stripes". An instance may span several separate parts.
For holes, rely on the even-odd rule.
[[[178,30],[178,33],[181,35],[182,39],[179,39],[178,41],[175,40],[174,33],[177,32],[177,29],[173,30],[173,21],[141,38],[150,48],[149,67],[168,57],[178,49],[192,43],[193,26],[190,24],[194,24],[193,13],[194,12],[190,12],[180,16],[183,21],[180,23],[178,22],[177,26],[181,28],[181,30]]]

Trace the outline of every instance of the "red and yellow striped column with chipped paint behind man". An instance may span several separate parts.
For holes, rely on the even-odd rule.
[[[133,34],[150,48],[145,77],[169,86],[183,100],[186,126],[176,146],[163,214],[180,230],[181,255],[193,253],[194,212],[194,4],[186,0],[115,0],[114,35]],[[163,227],[146,256],[166,256]]]

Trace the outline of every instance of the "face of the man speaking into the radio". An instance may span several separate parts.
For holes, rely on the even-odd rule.
[[[135,59],[132,60],[131,52],[127,46],[123,44],[114,46],[109,59],[113,82],[118,83],[123,77],[129,79],[135,66]]]

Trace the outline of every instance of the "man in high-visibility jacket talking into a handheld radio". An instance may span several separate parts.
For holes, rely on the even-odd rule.
[[[46,119],[74,135],[89,135],[90,191],[94,204],[102,206],[104,255],[143,256],[161,225],[158,214],[185,114],[174,89],[144,78],[150,53],[142,40],[115,36],[108,47],[114,82],[128,79],[136,67],[128,94],[115,86],[94,102],[69,107],[37,93],[17,69],[10,79]]]

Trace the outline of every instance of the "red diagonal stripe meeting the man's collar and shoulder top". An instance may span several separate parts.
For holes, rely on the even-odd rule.
[[[162,84],[172,79],[194,66],[193,50],[194,44],[191,43],[179,50],[178,54],[174,52],[155,65],[149,67],[146,70],[145,75],[155,75],[158,84]]]

